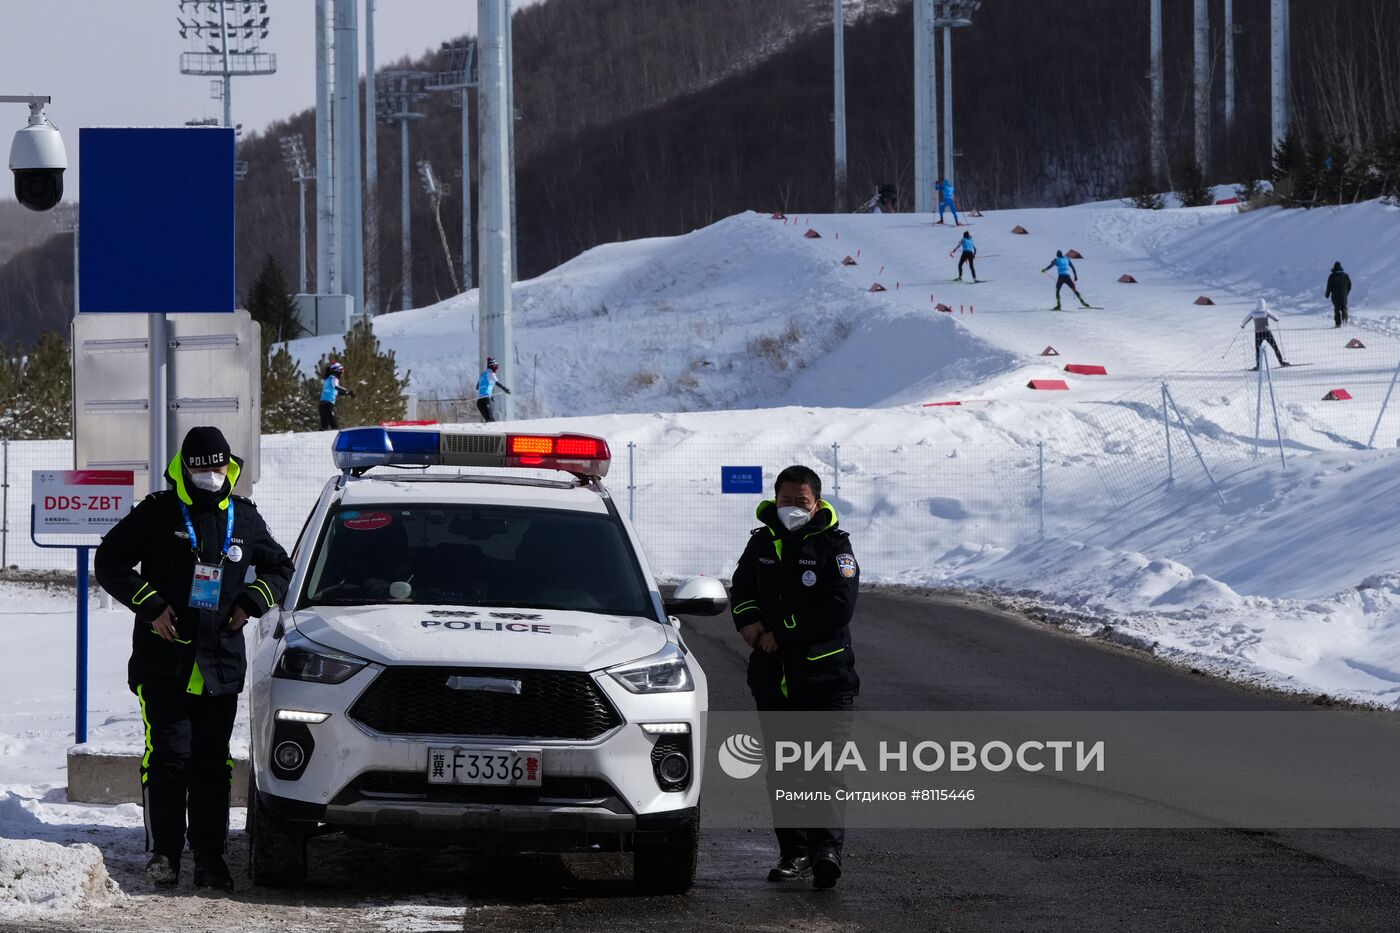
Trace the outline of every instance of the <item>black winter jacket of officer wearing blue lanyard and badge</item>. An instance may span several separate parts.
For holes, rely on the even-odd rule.
[[[234,458],[228,466],[230,488],[238,482],[238,469],[239,461]],[[179,454],[165,476],[175,488],[139,502],[106,532],[94,558],[102,588],[136,612],[127,685],[134,692],[140,684],[160,681],[207,696],[238,693],[244,688],[248,658],[244,633],[230,630],[228,619],[235,604],[252,618],[274,607],[291,583],[291,559],[273,539],[251,499],[228,496],[207,502],[207,495],[192,493]],[[204,563],[218,563],[228,530],[225,509],[234,509],[234,546],[224,560],[217,609],[189,607],[196,556],[181,503],[189,509],[199,560]],[[256,570],[256,577],[245,581],[249,567]],[[167,642],[151,628],[165,607],[175,612],[178,642]],[[199,675],[192,678],[196,661]]]

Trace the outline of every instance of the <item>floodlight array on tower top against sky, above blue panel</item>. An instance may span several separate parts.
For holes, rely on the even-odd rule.
[[[214,76],[221,81],[224,126],[234,125],[232,80],[274,74],[277,56],[262,52],[267,38],[267,0],[178,0],[179,36],[190,48],[179,56],[181,74]],[[186,20],[186,17],[189,17]]]

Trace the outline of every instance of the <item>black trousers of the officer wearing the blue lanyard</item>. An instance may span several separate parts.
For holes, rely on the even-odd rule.
[[[178,864],[188,825],[192,852],[221,856],[234,780],[228,735],[238,695],[196,696],[175,686],[141,684],[136,696],[146,723],[141,807],[147,852]]]

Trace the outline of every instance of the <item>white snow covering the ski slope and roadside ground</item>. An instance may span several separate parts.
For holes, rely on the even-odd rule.
[[[1106,203],[973,224],[987,277],[976,286],[951,280],[960,231],[927,216],[742,214],[601,247],[515,287],[521,350],[503,378],[532,429],[609,440],[609,486],[662,574],[732,567],[757,497],[721,495],[721,464],[759,464],[771,479],[805,461],[869,581],[990,590],[1194,667],[1400,707],[1400,410],[1366,448],[1400,361],[1400,209]],[[1018,224],[1029,233],[1011,233]],[[1040,269],[1056,249],[1084,255],[1081,286],[1102,310],[1049,310]],[[841,265],[847,255],[857,265]],[[1322,298],[1334,259],[1357,284],[1344,331]],[[1137,283],[1120,284],[1126,273]],[[875,282],[886,290],[869,291]],[[1268,381],[1246,371],[1238,326],[1257,297],[1282,318],[1288,357],[1309,366]],[[375,322],[420,398],[473,394],[476,298]],[[1365,347],[1347,349],[1351,338]],[[293,350],[309,368],[333,343]],[[1040,356],[1047,345],[1058,356]],[[1107,375],[1067,374],[1067,363]],[[1032,378],[1070,391],[1030,391]],[[1333,388],[1354,399],[1323,401]],[[969,403],[925,406],[935,401]],[[330,474],[329,441],[263,441],[256,496],[288,546]],[[25,450],[10,455],[62,465],[59,447]],[[11,481],[11,530],[25,525],[25,485]],[[11,560],[41,560],[17,538]],[[70,843],[95,831],[109,857],[134,863],[137,808],[64,803],[71,595],[0,584],[0,836]],[[129,630],[123,612],[94,612],[104,747],[140,744]],[[0,842],[0,862],[11,846]],[[45,895],[39,876],[32,888],[10,883],[0,864],[0,919],[69,909],[73,891],[113,897],[84,850],[63,852],[49,873],[73,881],[63,897]]]

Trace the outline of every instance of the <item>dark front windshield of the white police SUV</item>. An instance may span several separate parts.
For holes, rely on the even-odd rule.
[[[330,514],[301,605],[430,604],[651,616],[610,516],[511,506],[360,506]]]

